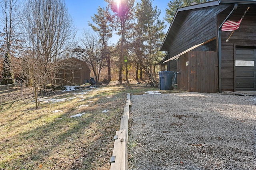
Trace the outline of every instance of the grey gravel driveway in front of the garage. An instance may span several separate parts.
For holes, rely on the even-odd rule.
[[[133,95],[130,170],[256,170],[256,97]]]

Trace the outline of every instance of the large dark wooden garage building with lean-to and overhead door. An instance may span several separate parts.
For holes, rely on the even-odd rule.
[[[238,22],[248,7],[233,34],[222,32],[224,22]],[[167,70],[178,72],[179,89],[256,91],[256,1],[216,0],[179,8],[160,51],[168,53]]]

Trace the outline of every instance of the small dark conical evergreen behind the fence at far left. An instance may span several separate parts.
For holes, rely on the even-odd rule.
[[[9,52],[7,52],[4,57],[2,77],[3,81],[1,85],[15,83],[14,73],[12,71],[12,59]]]

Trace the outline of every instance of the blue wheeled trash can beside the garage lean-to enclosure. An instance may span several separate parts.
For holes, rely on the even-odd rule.
[[[169,90],[172,87],[172,77],[175,71],[159,71],[160,90]]]

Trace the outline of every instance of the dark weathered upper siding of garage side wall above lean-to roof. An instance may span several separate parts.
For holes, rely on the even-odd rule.
[[[207,8],[199,8],[195,10],[185,11],[187,16],[180,20],[177,31],[171,37],[172,43],[169,47],[169,57],[173,57],[190,47],[206,42],[217,36],[216,14],[226,9],[227,5],[212,6]],[[215,41],[214,41],[215,42]],[[212,42],[212,43],[214,43]],[[202,46],[204,49],[196,49],[197,51],[212,50],[216,47]],[[208,49],[207,49],[208,48]],[[214,50],[215,51],[215,50]]]

